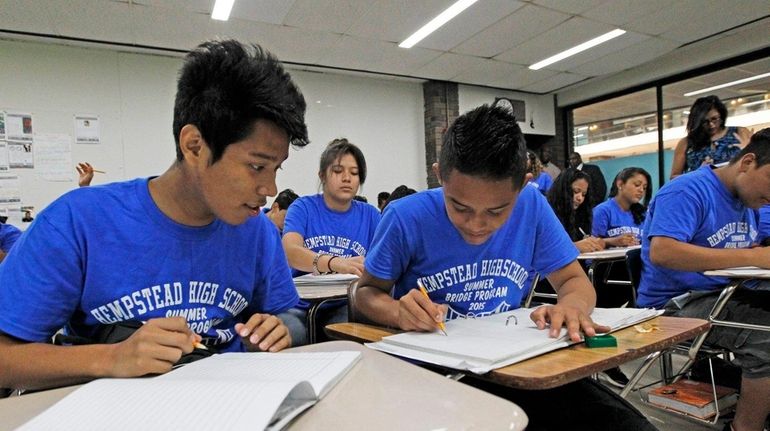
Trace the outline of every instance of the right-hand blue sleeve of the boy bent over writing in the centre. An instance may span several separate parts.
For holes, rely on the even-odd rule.
[[[533,193],[537,208],[537,237],[532,266],[535,271],[546,277],[572,263],[578,256],[578,250],[572,243],[564,227],[556,218],[548,202],[540,193]]]

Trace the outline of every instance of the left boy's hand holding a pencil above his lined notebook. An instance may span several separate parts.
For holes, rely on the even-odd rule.
[[[126,340],[113,344],[111,377],[138,377],[171,370],[201,340],[184,317],[150,319]]]

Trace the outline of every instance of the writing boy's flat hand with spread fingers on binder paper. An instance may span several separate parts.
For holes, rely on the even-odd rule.
[[[569,338],[576,342],[582,340],[580,331],[587,337],[593,337],[597,332],[610,331],[609,326],[594,323],[591,316],[582,310],[561,304],[538,307],[529,317],[535,322],[538,329],[545,329],[550,325],[548,335],[552,338],[559,336],[562,326],[567,328]]]

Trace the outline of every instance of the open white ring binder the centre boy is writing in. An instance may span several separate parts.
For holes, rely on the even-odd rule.
[[[455,319],[446,323],[448,336],[440,332],[404,332],[367,346],[431,364],[483,374],[574,344],[564,329],[558,338],[550,338],[547,330],[537,329],[529,318],[533,310],[520,308],[476,319]],[[591,318],[615,331],[661,313],[653,309],[596,308]]]

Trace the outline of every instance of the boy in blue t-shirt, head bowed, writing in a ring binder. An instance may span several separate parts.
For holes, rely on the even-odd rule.
[[[526,158],[521,130],[505,109],[484,105],[460,116],[434,165],[442,187],[399,199],[385,211],[359,282],[361,311],[382,325],[435,331],[445,317],[517,308],[534,268],[559,294],[556,305],[532,314],[539,328],[555,336],[566,327],[573,340],[581,331],[606,331],[589,317],[596,298],[575,260],[578,251],[543,195],[524,187]],[[418,280],[429,298],[417,289]],[[532,430],[653,429],[633,407],[588,380],[547,391],[472,384],[522,406]]]

